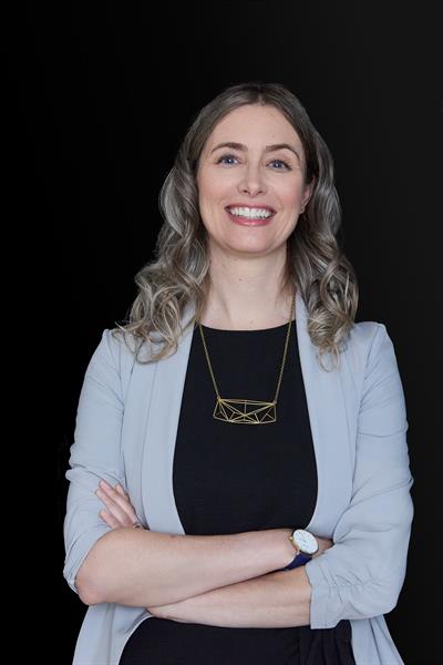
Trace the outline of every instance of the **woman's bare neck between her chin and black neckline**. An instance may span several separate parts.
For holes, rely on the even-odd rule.
[[[295,288],[282,289],[286,250],[276,256],[239,259],[212,255],[210,288],[203,325],[254,330],[288,323]]]

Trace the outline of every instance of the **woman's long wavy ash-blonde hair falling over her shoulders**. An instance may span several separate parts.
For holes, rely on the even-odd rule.
[[[353,326],[358,284],[352,265],[337,241],[341,209],[333,182],[333,162],[324,141],[300,101],[280,83],[248,82],[231,85],[204,106],[193,120],[159,193],[164,223],[154,259],[135,276],[138,295],[124,326],[113,334],[130,332],[137,360],[154,362],[173,355],[179,336],[200,319],[209,289],[206,229],[198,208],[196,173],[202,150],[217,123],[245,104],[278,109],[299,135],[305,149],[305,184],[315,180],[312,193],[295,231],[287,239],[287,266],[282,288],[292,285],[308,310],[308,332],[319,349],[338,364],[341,342]],[[193,301],[194,316],[182,327],[185,307]],[[126,339],[126,335],[124,335]],[[159,350],[142,360],[146,342]]]

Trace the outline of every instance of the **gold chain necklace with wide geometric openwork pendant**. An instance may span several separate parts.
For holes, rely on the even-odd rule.
[[[203,335],[202,325],[198,324],[198,327],[200,329],[203,347],[205,349],[206,360],[210,372],[210,378],[213,379],[214,389],[217,396],[217,401],[213,413],[213,417],[216,420],[223,420],[224,422],[238,422],[240,424],[266,424],[268,422],[276,422],[277,398],[280,391],[280,383],[281,378],[284,376],[286,356],[288,352],[289,335],[291,330],[295,305],[296,299],[292,298],[291,314],[288,324],[288,331],[286,334],[284,359],[281,362],[280,375],[278,377],[276,395],[274,397],[274,400],[270,402],[258,401],[254,399],[229,399],[220,397],[217,382],[214,377],[213,366],[210,365],[209,354],[206,347],[205,336]]]

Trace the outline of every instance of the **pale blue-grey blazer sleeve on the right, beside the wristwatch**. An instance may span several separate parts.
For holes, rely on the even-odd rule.
[[[406,410],[392,341],[378,324],[357,427],[352,498],[333,545],[306,564],[310,626],[390,612],[403,585],[413,519]]]

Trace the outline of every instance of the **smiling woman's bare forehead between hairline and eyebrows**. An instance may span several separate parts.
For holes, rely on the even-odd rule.
[[[208,136],[207,147],[225,141],[250,146],[292,143],[301,147],[296,130],[281,111],[275,106],[258,104],[239,106],[225,115]]]

